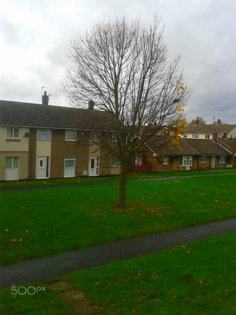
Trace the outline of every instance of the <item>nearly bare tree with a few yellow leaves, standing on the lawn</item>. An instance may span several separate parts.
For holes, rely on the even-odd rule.
[[[96,22],[68,51],[72,63],[61,90],[72,104],[83,107],[93,99],[96,109],[114,117],[116,146],[102,137],[100,145],[120,161],[119,207],[125,206],[127,168],[134,154],[160,128],[178,125],[190,96],[177,68],[179,57],[167,61],[159,25],[156,15],[149,26],[125,17]]]

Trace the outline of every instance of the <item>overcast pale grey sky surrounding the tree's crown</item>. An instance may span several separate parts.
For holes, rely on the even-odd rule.
[[[1,0],[0,99],[67,106],[59,91],[70,41],[100,19],[165,24],[170,59],[181,56],[193,95],[187,120],[236,124],[236,0]]]

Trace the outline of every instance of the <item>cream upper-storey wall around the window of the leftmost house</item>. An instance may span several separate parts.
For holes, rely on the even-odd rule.
[[[12,128],[12,126],[9,127]],[[28,151],[29,137],[24,137],[24,135],[29,132],[29,128],[19,127],[19,140],[6,139],[6,128],[7,126],[0,126],[0,151]]]

